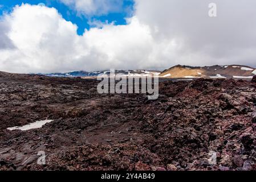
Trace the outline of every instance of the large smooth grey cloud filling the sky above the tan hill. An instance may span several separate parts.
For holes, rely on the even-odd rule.
[[[208,16],[208,5],[212,2],[217,5],[216,18]],[[137,0],[136,5],[141,22],[159,30],[154,34],[155,39],[176,38],[184,43],[185,54],[210,57],[193,60],[194,64],[253,64],[251,60],[256,55],[250,50],[256,51],[255,1]],[[243,56],[246,52],[250,53],[250,59]],[[180,61],[186,64],[185,60]]]

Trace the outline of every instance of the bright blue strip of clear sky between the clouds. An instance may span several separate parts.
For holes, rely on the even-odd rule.
[[[133,0],[123,0],[122,9],[119,12],[108,13],[105,15],[86,16],[79,14],[72,7],[66,6],[58,0],[0,0],[0,16],[4,13],[11,13],[16,5],[21,6],[22,3],[29,3],[30,5],[41,5],[47,7],[54,7],[63,16],[64,19],[70,21],[78,26],[78,35],[82,35],[84,29],[90,30],[95,25],[91,21],[99,22],[115,22],[116,25],[126,24],[125,18],[129,18],[133,14]]]

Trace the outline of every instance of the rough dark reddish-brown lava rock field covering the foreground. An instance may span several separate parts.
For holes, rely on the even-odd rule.
[[[0,72],[0,170],[256,169],[256,81],[162,81],[153,101],[97,83]]]

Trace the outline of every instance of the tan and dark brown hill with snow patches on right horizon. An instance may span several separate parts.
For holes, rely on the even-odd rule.
[[[213,65],[210,67],[190,67],[176,65],[161,72],[160,77],[166,78],[253,78],[256,69],[243,65]]]

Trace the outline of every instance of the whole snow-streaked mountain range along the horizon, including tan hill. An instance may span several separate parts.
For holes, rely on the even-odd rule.
[[[67,73],[38,73],[38,75],[52,77],[96,77],[98,75],[110,75],[111,71],[75,71]],[[122,73],[125,76],[159,76],[163,78],[253,78],[256,75],[256,68],[244,65],[213,65],[209,67],[191,67],[188,65],[176,65],[162,72],[147,70],[116,70],[116,74]]]

